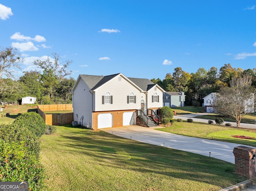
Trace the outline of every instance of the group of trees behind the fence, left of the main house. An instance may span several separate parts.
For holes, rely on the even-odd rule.
[[[35,71],[25,71],[19,79],[14,72],[20,69],[24,60],[14,47],[0,49],[0,100],[21,100],[22,97],[36,97],[39,104],[71,103],[71,90],[76,82],[68,77],[72,61],[60,62],[60,56],[52,53],[53,59],[36,60]]]

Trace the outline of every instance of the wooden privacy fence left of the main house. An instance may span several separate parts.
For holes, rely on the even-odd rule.
[[[46,125],[64,125],[73,121],[72,113],[45,114],[44,111],[72,110],[72,104],[38,105],[37,111]]]

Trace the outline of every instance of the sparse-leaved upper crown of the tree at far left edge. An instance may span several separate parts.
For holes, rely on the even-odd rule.
[[[23,59],[20,58],[18,50],[14,47],[6,47],[0,49],[0,80],[5,75],[7,78],[13,78],[12,69],[20,69],[20,63]]]

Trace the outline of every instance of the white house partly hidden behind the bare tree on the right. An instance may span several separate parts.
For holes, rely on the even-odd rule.
[[[213,99],[218,93],[210,93],[209,95],[205,96],[204,99],[204,110],[206,112],[215,112],[214,108],[212,107]],[[253,113],[254,112],[254,94],[250,94],[250,100],[248,100],[248,105],[251,107],[246,107],[246,110]]]

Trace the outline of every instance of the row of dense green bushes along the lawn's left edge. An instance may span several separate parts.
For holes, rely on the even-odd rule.
[[[35,112],[0,126],[0,181],[28,181],[33,191],[44,188],[39,138],[45,132],[44,120]]]

